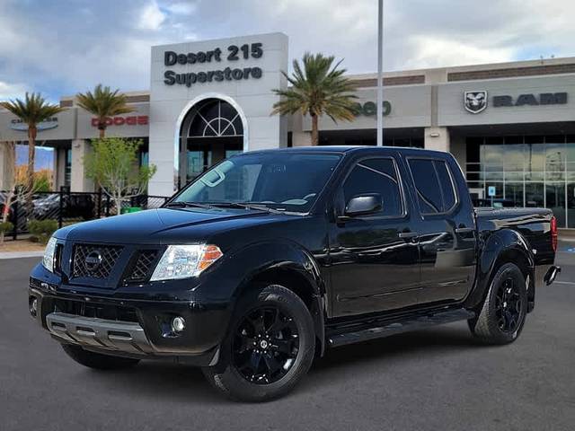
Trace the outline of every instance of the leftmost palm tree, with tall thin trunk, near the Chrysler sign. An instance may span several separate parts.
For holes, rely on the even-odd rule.
[[[26,171],[26,200],[31,206],[31,193],[34,188],[34,159],[38,124],[62,112],[64,108],[47,102],[40,92],[26,93],[24,100],[2,101],[0,106],[9,110],[28,125],[28,169]]]

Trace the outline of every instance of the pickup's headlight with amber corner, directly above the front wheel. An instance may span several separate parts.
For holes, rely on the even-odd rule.
[[[155,267],[150,281],[198,277],[223,256],[217,245],[169,245]]]

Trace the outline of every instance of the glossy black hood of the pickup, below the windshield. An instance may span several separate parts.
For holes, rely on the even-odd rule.
[[[73,224],[58,230],[56,236],[75,242],[162,244],[177,238],[185,243],[205,240],[248,221],[260,224],[278,217],[283,216],[242,208],[160,208]]]

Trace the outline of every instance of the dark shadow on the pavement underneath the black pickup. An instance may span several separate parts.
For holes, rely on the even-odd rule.
[[[307,391],[322,383],[345,379],[345,371],[369,373],[366,365],[387,367],[400,366],[401,360],[411,356],[433,355],[451,350],[482,348],[476,343],[466,326],[443,327],[424,330],[385,339],[377,339],[326,352],[315,360],[310,375],[304,378],[295,392]],[[398,361],[398,359],[400,361]],[[226,403],[217,391],[210,387],[201,370],[186,365],[144,361],[137,367],[119,372],[94,372],[94,380],[110,384],[131,394],[143,397],[160,397],[181,402]]]

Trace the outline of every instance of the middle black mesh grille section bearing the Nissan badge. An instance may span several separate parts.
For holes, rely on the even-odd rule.
[[[122,249],[116,245],[75,244],[72,277],[110,277]]]

